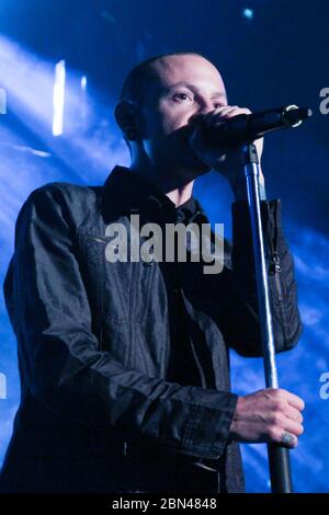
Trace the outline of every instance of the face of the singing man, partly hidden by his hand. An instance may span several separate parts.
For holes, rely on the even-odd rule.
[[[157,79],[150,84],[141,108],[143,146],[156,168],[186,178],[205,173],[203,163],[189,145],[191,122],[227,105],[218,70],[196,55],[169,56],[154,65]]]

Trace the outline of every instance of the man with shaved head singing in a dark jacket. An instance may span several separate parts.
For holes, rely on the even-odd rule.
[[[116,167],[103,186],[46,184],[25,202],[4,282],[22,398],[2,492],[243,492],[239,442],[296,447],[300,398],[230,391],[229,348],[262,354],[254,265],[241,149],[209,147],[205,133],[241,113],[250,111],[227,104],[207,59],[157,56],[131,71],[115,110],[129,169]],[[106,229],[129,229],[132,215],[163,233],[205,224],[192,190],[211,169],[235,195],[220,273],[205,274],[202,262],[106,259]],[[296,285],[281,203],[260,183],[283,352],[302,331]]]

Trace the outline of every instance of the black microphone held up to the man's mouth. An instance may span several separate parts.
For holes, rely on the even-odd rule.
[[[297,107],[297,105],[276,107],[260,113],[238,114],[218,122],[215,127],[206,128],[205,138],[212,146],[250,142],[272,130],[298,127],[311,115],[310,108]]]

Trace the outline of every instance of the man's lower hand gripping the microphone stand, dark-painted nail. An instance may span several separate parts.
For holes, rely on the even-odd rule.
[[[230,436],[237,442],[273,442],[296,447],[304,432],[300,413],[304,408],[299,397],[281,388],[239,397]]]

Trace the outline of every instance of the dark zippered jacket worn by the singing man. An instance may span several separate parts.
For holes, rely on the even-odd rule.
[[[197,206],[193,221],[206,222]],[[277,352],[300,333],[280,210],[280,201],[262,202]],[[106,261],[106,227],[129,228],[131,214],[177,221],[166,195],[120,167],[104,186],[39,187],[20,211],[4,296],[22,397],[1,491],[172,491],[172,464],[191,470],[195,461],[218,470],[218,491],[243,491],[229,438],[237,396],[228,348],[261,355],[247,203],[232,204],[223,272],[185,263],[179,286],[166,263]],[[194,385],[168,380],[178,295],[200,370]]]

